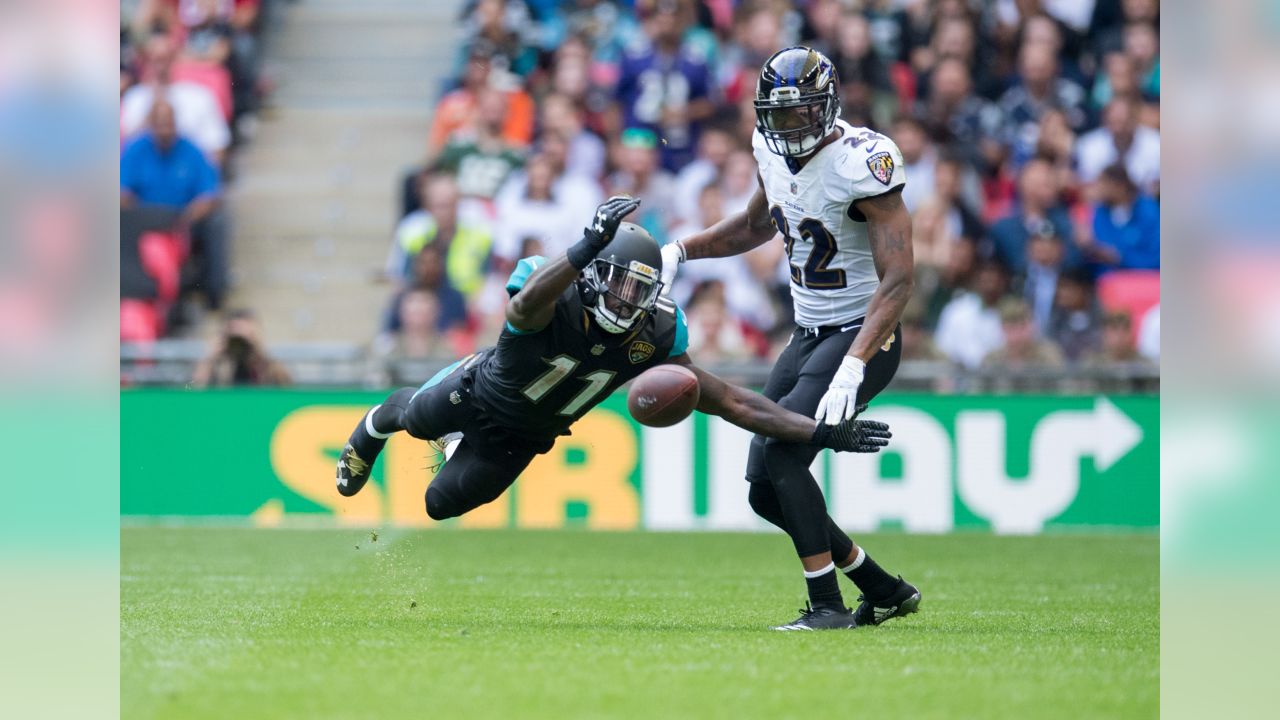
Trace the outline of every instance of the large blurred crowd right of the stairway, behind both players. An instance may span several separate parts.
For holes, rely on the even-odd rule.
[[[905,357],[966,369],[1158,355],[1156,0],[472,0],[403,178],[388,357],[497,334],[506,274],[616,192],[672,242],[755,191],[760,64],[836,64],[842,118],[906,161],[916,297]],[[781,242],[690,263],[700,361],[769,359],[791,327]]]

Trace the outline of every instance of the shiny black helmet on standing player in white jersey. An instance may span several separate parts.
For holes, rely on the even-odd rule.
[[[813,152],[840,117],[840,78],[826,55],[810,47],[778,50],[755,82],[755,127],[776,155]]]

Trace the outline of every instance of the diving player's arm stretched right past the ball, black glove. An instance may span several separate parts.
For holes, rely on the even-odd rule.
[[[758,392],[719,379],[694,365],[689,354],[677,355],[671,361],[689,368],[698,377],[699,413],[724,418],[753,433],[847,452],[878,452],[892,437],[888,425],[874,420],[850,419],[836,427],[817,423]]]

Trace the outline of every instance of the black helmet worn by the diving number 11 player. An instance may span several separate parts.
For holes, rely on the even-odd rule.
[[[608,333],[625,333],[653,314],[662,290],[662,252],[649,231],[622,223],[579,278],[582,305]]]

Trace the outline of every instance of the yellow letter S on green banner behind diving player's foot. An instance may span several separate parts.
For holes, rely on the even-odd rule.
[[[340,450],[364,414],[361,407],[302,407],[285,415],[271,433],[271,469],[284,487],[332,510],[348,525],[380,521],[383,495],[374,483],[355,497],[338,495],[335,462],[325,451]]]

